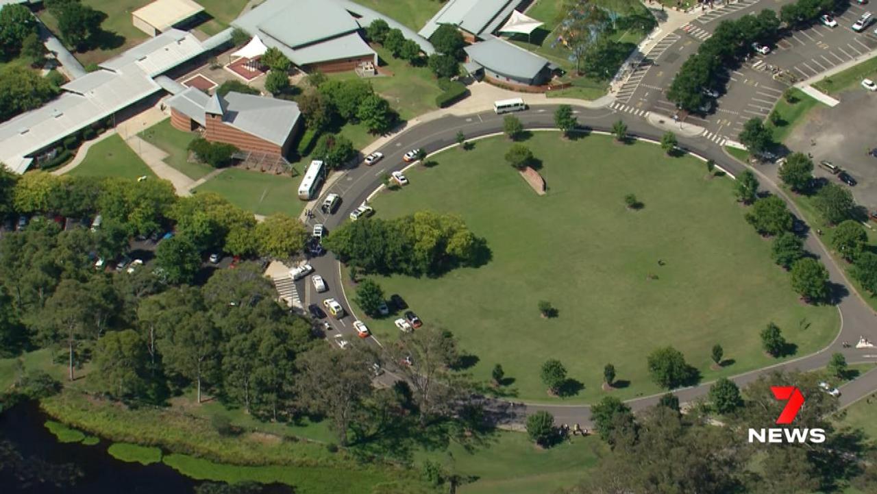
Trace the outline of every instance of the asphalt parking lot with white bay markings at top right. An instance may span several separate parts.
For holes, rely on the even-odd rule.
[[[625,111],[645,118],[649,112],[672,116],[675,105],[665,97],[667,88],[682,63],[695,53],[700,44],[709,39],[716,26],[725,19],[740,18],[762,9],[779,13],[789,0],[744,0],[725,4],[707,11],[688,25],[668,33],[636,68],[617,93],[613,110]],[[724,94],[717,99],[706,115],[688,115],[685,121],[701,125],[704,139],[718,145],[737,140],[746,120],[766,118],[774,104],[789,85],[824,73],[847,61],[864,59],[877,49],[875,24],[864,32],[852,31],[852,24],[867,11],[868,5],[851,3],[835,16],[838,25],[828,27],[821,23],[800,31],[788,32],[769,54],[753,54],[748,60],[726,75]],[[784,78],[775,72],[784,72]]]

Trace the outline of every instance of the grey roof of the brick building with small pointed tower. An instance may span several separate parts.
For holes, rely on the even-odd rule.
[[[223,123],[282,146],[296,126],[298,104],[285,99],[229,92],[225,97],[205,95],[189,88],[168,98],[168,106],[206,126],[205,114],[222,115]]]

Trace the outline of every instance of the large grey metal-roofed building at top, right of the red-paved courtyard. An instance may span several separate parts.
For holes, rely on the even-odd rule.
[[[267,0],[232,21],[298,66],[377,54],[360,37],[360,25],[340,4],[327,0]]]

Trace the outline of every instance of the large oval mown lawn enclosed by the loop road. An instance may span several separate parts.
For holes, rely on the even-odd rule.
[[[837,333],[837,309],[799,302],[770,260],[770,242],[746,224],[731,180],[707,178],[701,161],[598,135],[570,141],[536,132],[527,145],[544,164],[543,197],[503,161],[509,141],[494,138],[439,154],[435,167],[410,170],[409,186],[373,201],[379,218],[460,214],[487,240],[492,260],[481,268],[377,278],[425,324],[457,336],[461,351],[477,357],[475,378],[487,381],[499,363],[514,379],[509,392],[549,401],[539,369],[557,358],[584,386],[567,401],[592,402],[605,395],[602,369],[611,362],[629,382],[613,394],[628,398],[659,391],[645,363],[657,347],[677,347],[709,381],[774,363],[759,340],[770,321],[798,355]],[[627,210],[626,194],[645,207]],[[559,317],[541,318],[540,300]],[[392,340],[392,320],[368,322]],[[716,343],[734,361],[719,371],[709,369]]]

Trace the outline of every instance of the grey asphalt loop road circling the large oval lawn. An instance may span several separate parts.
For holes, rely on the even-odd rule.
[[[515,116],[521,119],[524,127],[527,129],[550,129],[554,126],[554,110],[556,108],[556,105],[533,106],[527,111],[517,112]],[[588,109],[574,106],[574,111],[583,132],[609,130],[611,125],[620,118],[628,125],[628,132],[631,136],[660,140],[660,136],[663,133],[663,131],[649,125],[645,120],[617,113],[608,108]],[[323,197],[330,192],[339,194],[342,202],[338,211],[329,216],[324,215],[322,211],[316,208],[314,210],[316,216],[310,219],[310,224],[323,223],[331,232],[333,228],[338,227],[348,218],[350,211],[353,211],[362,204],[381,185],[382,177],[385,174],[406,166],[406,163],[402,160],[402,155],[405,152],[417,147],[423,147],[427,153],[434,153],[439,149],[455,144],[457,132],[463,132],[467,139],[503,132],[503,116],[496,115],[492,110],[462,117],[446,116],[400,132],[378,149],[384,154],[382,161],[373,167],[360,164],[354,168],[349,168],[339,180],[332,183],[332,186],[322,190],[317,204],[320,204]],[[716,161],[718,166],[730,172],[731,175],[738,175],[738,173],[745,169],[745,165],[734,160],[728,154],[725,154],[721,147],[717,147],[713,142],[703,137],[679,137],[679,145],[682,149],[698,154],[702,158]],[[754,171],[758,174],[757,169]],[[783,192],[778,190],[774,183],[771,183],[766,176],[760,175],[759,178],[762,189],[770,190],[774,194],[785,197]],[[789,206],[793,212],[796,211],[794,204],[789,204]],[[798,214],[799,218],[800,216]],[[764,369],[757,369],[731,377],[741,387],[751,383],[759,375],[771,370],[812,370],[822,368],[829,361],[831,354],[835,352],[845,354],[847,362],[850,363],[877,363],[877,348],[843,348],[841,345],[843,341],[850,341],[854,344],[859,340],[859,336],[865,336],[868,340],[877,341],[877,327],[875,327],[875,323],[877,323],[875,316],[877,314],[852,289],[846,288],[849,286],[849,283],[843,271],[838,268],[838,265],[832,260],[823,244],[816,239],[816,236],[809,235],[805,242],[805,247],[823,259],[826,268],[829,270],[831,283],[838,287],[837,291],[842,294],[839,297],[838,303],[838,311],[841,315],[841,329],[838,337],[831,342],[831,345],[815,354],[805,355]],[[355,338],[352,325],[353,319],[350,315],[353,312],[350,311],[350,304],[341,285],[339,262],[335,261],[332,255],[324,255],[323,257],[312,259],[310,263],[314,266],[316,272],[324,277],[330,289],[328,292],[318,294],[318,299],[335,297],[345,306],[348,312],[346,318],[339,321],[329,319],[330,323],[335,330],[346,334],[348,339]],[[319,303],[317,294],[313,292],[310,283],[299,283],[299,287],[301,289],[299,293],[305,294],[304,299],[306,303]],[[327,336],[331,339],[333,335],[327,334]],[[369,340],[380,344],[374,338]],[[385,376],[388,379],[393,378],[391,373]],[[691,388],[674,390],[674,394],[680,398],[681,402],[688,402],[696,397],[705,395],[709,390],[709,384],[702,383]],[[877,369],[867,372],[851,383],[845,384],[841,388],[843,394],[839,398],[840,405],[850,405],[875,390],[877,390]],[[627,403],[631,405],[634,411],[637,411],[656,404],[659,397],[660,395],[638,397]],[[588,405],[510,404],[502,400],[490,400],[490,407],[497,411],[503,410],[503,412],[508,413],[510,416],[510,421],[515,422],[521,421],[525,413],[546,410],[553,413],[558,423],[579,423],[581,426],[590,426],[590,407]]]

